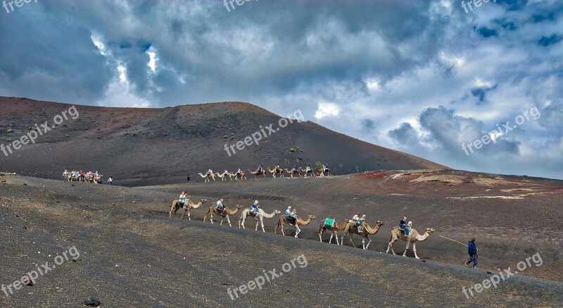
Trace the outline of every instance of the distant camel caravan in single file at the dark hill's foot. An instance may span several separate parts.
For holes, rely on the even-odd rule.
[[[303,174],[304,177],[324,176],[325,173],[327,173],[327,175],[332,175],[330,169],[325,165],[322,165],[321,168],[312,168],[311,166],[307,166],[306,168],[298,168],[298,166],[293,166],[293,168],[291,169],[281,168],[279,165],[275,166],[274,168],[262,168],[262,166],[258,166],[256,170],[251,171],[250,169],[247,169],[246,171],[248,171],[249,174],[254,175],[254,178],[259,178],[260,176],[266,178],[268,173],[272,175],[272,178],[284,178],[286,174],[289,175],[290,178],[293,178],[293,175],[301,177],[301,174]],[[198,173],[198,175],[204,179],[204,183],[211,182],[211,180],[215,182],[215,178],[218,178],[222,181],[227,180],[227,178],[229,178],[229,180],[246,180],[246,174],[241,171],[240,168],[236,172],[229,172],[227,169],[225,169],[222,173],[214,173],[212,169],[209,169],[205,173]]]

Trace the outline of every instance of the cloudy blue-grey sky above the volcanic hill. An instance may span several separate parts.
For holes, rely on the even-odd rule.
[[[563,179],[563,1],[25,1],[0,8],[2,96],[247,101],[451,168]]]

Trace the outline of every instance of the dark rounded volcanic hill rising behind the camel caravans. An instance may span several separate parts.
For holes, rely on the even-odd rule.
[[[71,105],[25,98],[0,97],[0,142],[18,140],[34,125],[48,121]],[[11,171],[42,178],[58,178],[64,169],[101,171],[121,185],[178,183],[186,175],[213,168],[235,171],[327,164],[335,174],[380,169],[443,168],[420,159],[308,122],[279,128],[280,117],[252,104],[224,102],[163,109],[125,109],[76,106],[80,114],[39,136],[1,164]],[[296,113],[298,117],[298,113]],[[224,150],[245,137],[266,130],[258,145],[246,146],[231,156]],[[279,130],[277,130],[279,128]],[[41,128],[39,128],[41,129]],[[8,131],[10,133],[8,133]]]

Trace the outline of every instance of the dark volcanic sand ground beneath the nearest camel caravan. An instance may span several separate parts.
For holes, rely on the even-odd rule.
[[[549,203],[560,202],[560,192],[510,202],[486,199],[484,203],[443,199],[440,194],[434,199],[386,195],[383,189],[369,195],[360,193],[362,183],[375,188],[379,182],[369,182],[361,175],[136,188],[12,175],[0,180],[6,180],[0,184],[0,283],[19,279],[35,269],[35,264],[53,264],[55,255],[68,247],[75,246],[80,252],[76,262],[65,261],[39,277],[34,286],[24,286],[10,296],[1,293],[1,307],[80,307],[90,297],[100,300],[101,307],[558,307],[563,300],[557,263],[560,225],[554,222],[560,218],[556,207],[560,203]],[[210,199],[192,211],[193,221],[180,220],[179,215],[167,217],[181,187],[189,189],[192,199]],[[398,189],[408,192],[405,187]],[[289,236],[293,231],[285,237],[274,235],[274,218],[265,219],[267,233],[251,230],[253,223],[247,223],[247,230],[236,228],[238,216],[232,219],[234,228],[202,223],[205,208],[218,195],[229,205],[249,205],[252,199],[260,199],[266,211],[291,204],[302,216],[317,218],[303,226],[300,239]],[[543,212],[536,217],[531,210],[518,213],[524,207],[538,209],[538,204],[548,207],[546,211],[557,211],[559,217],[546,217]],[[473,215],[457,217],[469,208]],[[329,245],[328,233],[325,242],[319,242],[316,233],[321,218],[331,214],[341,221],[356,209],[368,214],[368,222],[375,218],[386,221],[381,232],[372,235],[369,250],[354,249],[348,243]],[[380,253],[393,221],[400,216],[396,211],[416,216],[415,226],[438,230],[419,243],[417,252],[423,259],[412,258],[412,252],[406,258]],[[460,221],[467,226],[456,226]],[[488,225],[491,221],[507,230],[487,236],[494,233]],[[553,227],[546,227],[550,225]],[[512,228],[526,236],[513,241],[517,235],[510,234]],[[474,234],[482,265],[476,270],[462,266],[465,247],[438,237],[466,242]],[[356,242],[361,245],[358,238]],[[398,242],[396,252],[402,252],[404,245]],[[495,273],[497,267],[512,266],[514,271],[518,261],[535,252],[542,255],[542,266],[527,269],[469,300],[463,295],[462,287],[487,279],[491,276],[488,270]],[[251,290],[235,300],[227,294],[227,288],[254,280],[262,270],[279,273],[284,263],[300,255],[307,259],[307,266],[297,264],[262,290]]]

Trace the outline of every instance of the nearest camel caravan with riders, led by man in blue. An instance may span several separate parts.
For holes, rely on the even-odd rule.
[[[180,219],[183,219],[184,216],[187,214],[189,220],[191,220],[191,209],[198,209],[201,207],[202,204],[207,202],[208,199],[200,199],[198,203],[194,203],[191,201],[190,196],[186,194],[186,192],[182,192],[178,199],[175,199],[172,202],[172,207],[170,207],[170,217],[172,215],[176,217],[176,212],[180,209],[184,209],[184,213]],[[223,199],[217,200],[214,205],[211,205],[208,208],[208,211],[203,216],[203,222],[205,223],[208,219],[211,223],[214,223],[213,216],[220,216],[221,221],[219,225],[221,226],[224,220],[227,220],[229,226],[232,227],[230,217],[235,216],[236,214],[241,211],[241,216],[239,217],[239,228],[245,228],[245,223],[247,220],[254,219],[255,221],[255,231],[258,231],[258,226],[262,227],[262,232],[266,232],[264,227],[264,219],[265,218],[274,218],[277,215],[277,226],[274,228],[274,234],[277,234],[277,230],[281,230],[281,235],[285,235],[284,226],[289,226],[296,230],[294,237],[298,238],[299,233],[301,233],[300,226],[307,226],[313,219],[316,217],[313,215],[307,215],[306,219],[301,218],[297,215],[296,209],[291,209],[291,206],[288,207],[284,214],[277,209],[274,209],[271,213],[267,213],[263,209],[260,208],[258,200],[246,209],[242,209],[240,204],[236,204],[234,207],[228,207],[227,204],[224,204]],[[362,238],[362,248],[364,250],[369,249],[369,244],[372,240],[369,238],[369,235],[376,235],[381,226],[384,226],[385,223],[383,221],[375,221],[372,226],[365,221],[366,216],[360,214],[360,212],[356,213],[352,219],[345,219],[343,223],[338,223],[336,218],[327,217],[320,221],[319,226],[319,240],[322,242],[322,235],[325,231],[329,231],[331,233],[329,243],[332,242],[332,239],[336,239],[336,245],[344,245],[344,237],[348,235],[351,245],[355,248],[355,242],[353,240],[354,235],[360,236]],[[400,221],[399,226],[393,227],[391,230],[391,238],[388,240],[387,250],[386,253],[391,250],[393,254],[393,244],[398,240],[403,240],[407,242],[407,246],[405,247],[405,251],[403,252],[403,257],[406,257],[407,250],[412,243],[412,251],[415,253],[415,258],[420,259],[417,255],[417,248],[416,243],[422,242],[429,238],[429,236],[434,233],[433,228],[426,228],[424,233],[421,235],[415,228],[412,228],[412,222],[406,222],[406,217]],[[339,241],[339,232],[343,232],[341,239]]]

